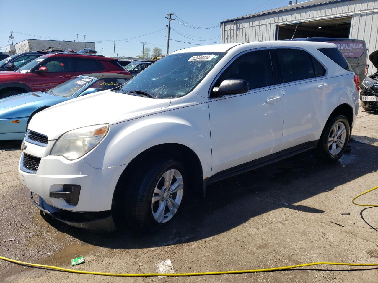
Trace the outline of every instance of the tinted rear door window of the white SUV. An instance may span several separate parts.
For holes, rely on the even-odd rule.
[[[309,53],[300,49],[275,49],[284,83],[320,77],[324,67]]]

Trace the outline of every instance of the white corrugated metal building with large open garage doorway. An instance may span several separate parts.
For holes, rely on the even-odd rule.
[[[225,20],[221,27],[222,43],[290,39],[295,31],[294,38],[363,39],[370,54],[378,49],[378,0],[311,0]]]

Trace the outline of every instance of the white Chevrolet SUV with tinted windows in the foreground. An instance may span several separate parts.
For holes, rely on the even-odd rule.
[[[338,160],[358,111],[341,61],[320,42],[175,51],[121,87],[34,115],[21,181],[70,225],[160,229],[212,182],[309,149]]]

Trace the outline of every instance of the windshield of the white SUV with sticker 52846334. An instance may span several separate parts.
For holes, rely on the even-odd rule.
[[[167,55],[133,77],[119,91],[144,91],[156,98],[182,97],[192,91],[225,54],[188,52]]]

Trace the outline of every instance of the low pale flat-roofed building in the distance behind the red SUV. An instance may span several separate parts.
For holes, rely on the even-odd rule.
[[[25,39],[22,42],[15,44],[15,51],[16,53],[40,51],[49,47],[61,47],[63,50],[73,49],[77,52],[85,47],[95,49],[95,43],[65,40]]]

